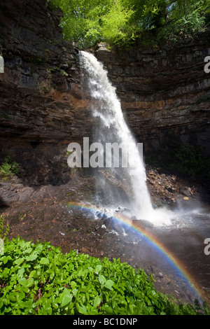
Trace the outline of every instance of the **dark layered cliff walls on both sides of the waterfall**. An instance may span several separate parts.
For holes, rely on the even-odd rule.
[[[58,184],[71,178],[69,143],[90,137],[94,118],[81,92],[78,49],[62,40],[62,12],[46,0],[0,5],[0,160],[10,154],[27,183]],[[210,33],[176,48],[95,51],[120,97],[125,119],[144,152],[176,143],[209,148],[210,79],[204,57]]]

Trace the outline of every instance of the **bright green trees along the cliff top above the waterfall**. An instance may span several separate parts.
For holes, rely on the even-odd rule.
[[[62,8],[64,38],[81,47],[192,36],[210,22],[210,0],[48,0]]]

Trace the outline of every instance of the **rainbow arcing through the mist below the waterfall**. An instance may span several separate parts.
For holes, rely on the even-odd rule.
[[[68,207],[73,207],[76,209],[80,209],[83,211],[89,211],[92,213],[96,213],[99,211],[99,213],[102,214],[102,209],[97,208],[96,206],[93,206],[91,204],[87,203],[78,203],[78,202],[68,202]],[[178,260],[169,249],[162,244],[161,241],[157,239],[151,232],[148,232],[144,228],[139,228],[137,224],[135,224],[133,221],[130,221],[129,218],[124,216],[123,214],[117,214],[115,216],[111,216],[113,220],[118,221],[120,223],[123,223],[124,225],[127,225],[128,228],[134,229],[136,232],[139,232],[141,235],[144,236],[146,241],[155,248],[156,251],[162,254],[163,257],[169,262],[169,264],[176,269],[176,271],[179,273],[179,275],[183,278],[186,283],[188,283],[188,286],[191,288],[193,293],[197,296],[197,299],[200,301],[203,301],[205,297],[203,296],[202,287],[195,281],[193,276],[188,272],[188,270],[184,267],[184,265],[181,263],[180,260]]]

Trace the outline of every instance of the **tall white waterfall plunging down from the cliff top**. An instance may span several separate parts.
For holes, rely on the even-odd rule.
[[[132,209],[136,218],[151,220],[155,210],[146,186],[144,160],[125,122],[116,88],[94,55],[81,51],[80,63],[85,92],[92,100],[92,116],[95,118],[92,140],[103,145],[116,143],[124,146],[119,167],[113,166],[110,153],[106,152],[106,164],[112,163],[112,166],[99,169],[99,189],[103,190],[107,204],[126,206]],[[128,165],[123,167],[126,160]]]

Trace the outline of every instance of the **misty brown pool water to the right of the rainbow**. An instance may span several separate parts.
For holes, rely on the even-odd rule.
[[[180,204],[171,225],[153,228],[155,236],[174,255],[202,295],[210,292],[210,207],[199,203]],[[210,248],[209,248],[210,251]]]

